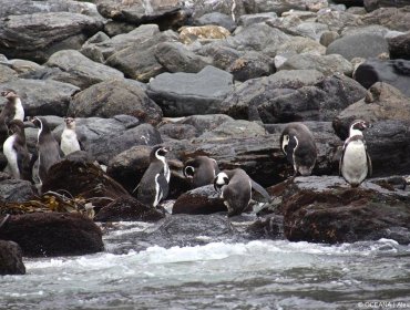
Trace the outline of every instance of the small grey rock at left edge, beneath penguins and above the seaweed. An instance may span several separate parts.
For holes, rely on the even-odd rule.
[[[22,203],[37,195],[35,188],[28,180],[4,179],[0,182],[1,202]]]

